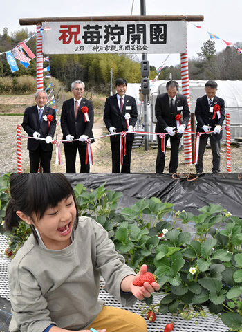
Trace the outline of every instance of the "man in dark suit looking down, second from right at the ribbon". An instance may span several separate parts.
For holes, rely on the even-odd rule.
[[[183,136],[190,118],[190,111],[185,95],[178,93],[178,82],[169,81],[166,85],[167,93],[158,95],[156,98],[156,133],[169,133],[165,136],[165,146],[167,140],[171,141],[171,158],[169,162],[169,173],[176,173],[178,167],[178,153],[180,138]],[[181,119],[183,114],[183,120]],[[180,126],[177,128],[176,116],[180,118]],[[174,133],[177,130],[177,133]],[[165,167],[165,154],[161,151],[161,139],[158,140],[158,152],[156,158],[156,173],[163,173]]]

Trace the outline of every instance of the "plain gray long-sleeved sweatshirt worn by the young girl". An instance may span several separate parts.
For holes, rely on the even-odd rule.
[[[123,306],[136,302],[132,294],[120,291],[122,279],[135,273],[115,252],[106,230],[93,219],[81,217],[73,243],[62,250],[39,246],[31,234],[8,270],[10,332],[41,332],[50,324],[86,329],[104,304],[97,300],[100,275],[106,291]]]

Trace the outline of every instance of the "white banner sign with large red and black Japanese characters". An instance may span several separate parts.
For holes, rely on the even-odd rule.
[[[46,22],[43,53],[185,53],[185,21]]]

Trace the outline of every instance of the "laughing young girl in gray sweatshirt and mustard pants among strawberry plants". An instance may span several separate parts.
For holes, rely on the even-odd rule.
[[[160,286],[133,286],[138,275],[124,264],[102,225],[78,219],[73,188],[63,174],[11,174],[7,230],[24,220],[32,234],[9,267],[10,332],[145,332],[145,320],[97,299],[100,275],[123,306]],[[91,328],[92,326],[92,328]],[[90,330],[91,329],[91,330]]]

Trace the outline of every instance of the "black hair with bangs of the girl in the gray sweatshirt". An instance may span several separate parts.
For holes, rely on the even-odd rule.
[[[73,196],[75,208],[77,201],[73,187],[66,176],[61,173],[12,173],[10,174],[11,199],[6,208],[5,228],[12,231],[12,228],[19,225],[19,216],[16,212],[21,211],[26,216],[37,214],[41,219],[47,208],[55,207],[62,199]],[[74,223],[74,230],[78,224],[78,210]],[[39,238],[34,225],[30,225],[32,233],[39,243]]]

